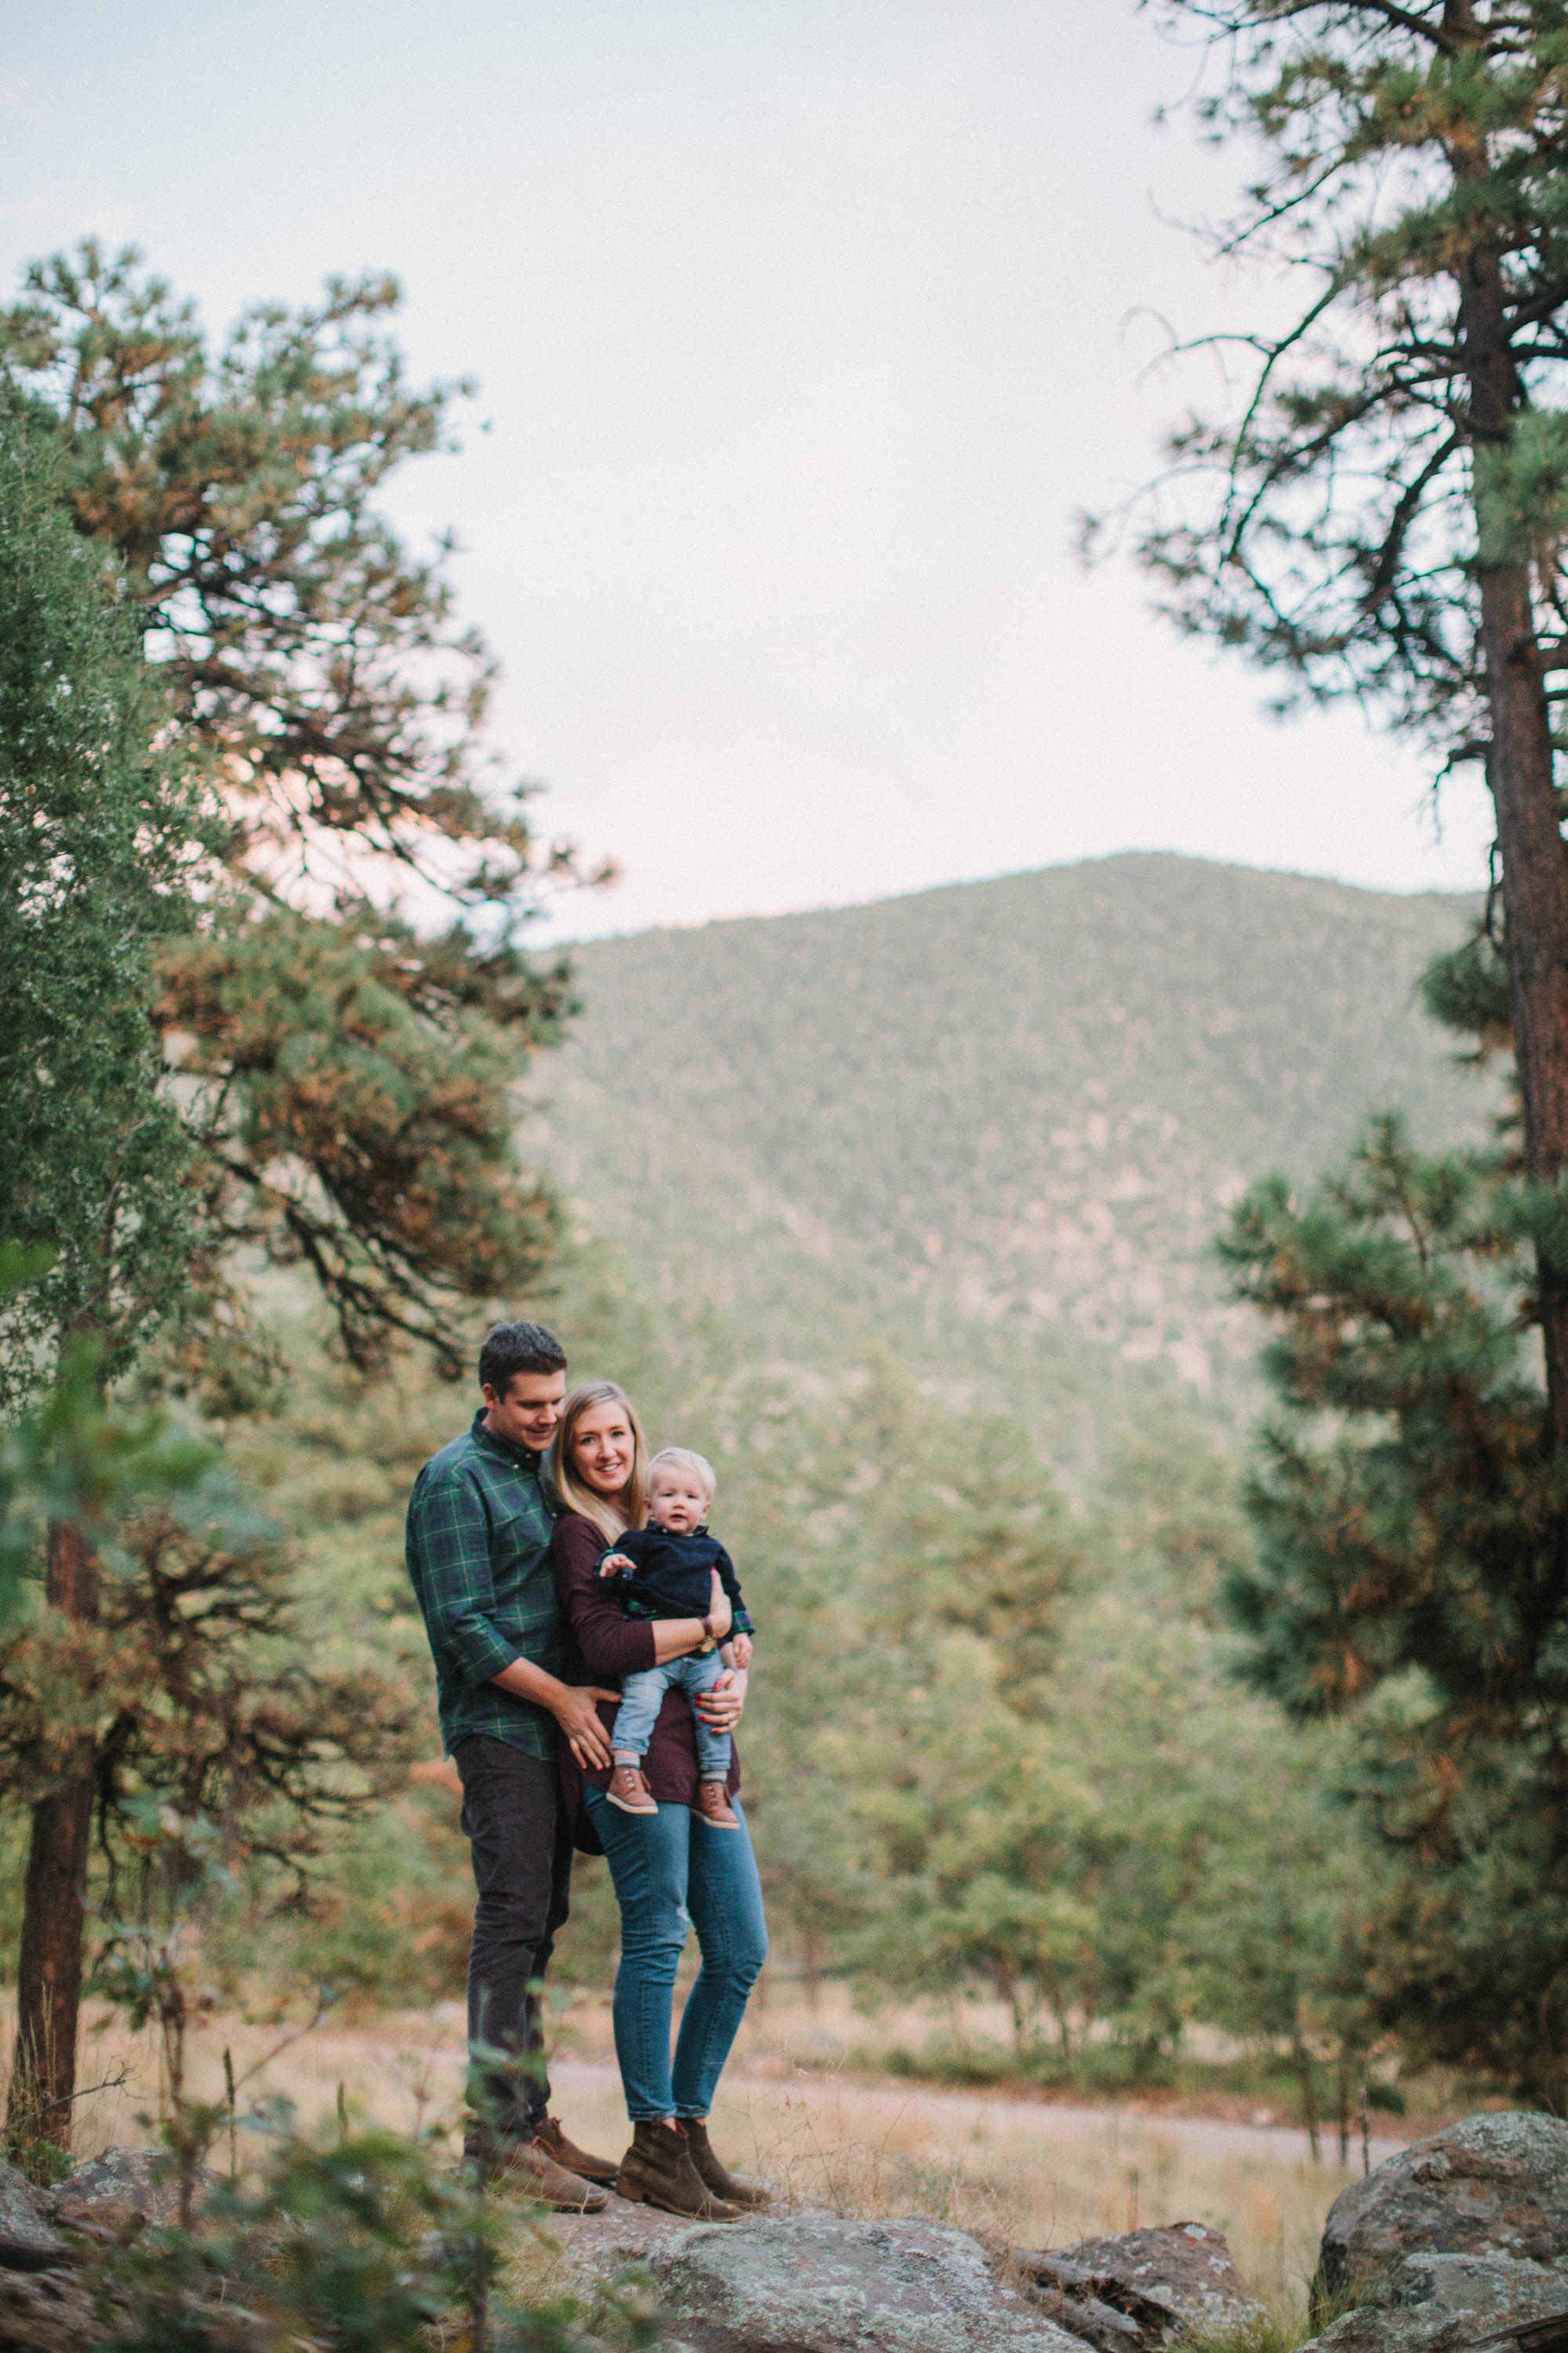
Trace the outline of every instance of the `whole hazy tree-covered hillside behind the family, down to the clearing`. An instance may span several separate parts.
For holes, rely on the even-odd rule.
[[[1410,1002],[1462,920],[1140,856],[583,951],[524,1127],[578,1235],[515,1306],[719,1468],[780,1969],[947,2021],[1004,1995],[980,2071],[1081,2068],[1091,2031],[1147,2068],[1201,2019],[1300,2073],[1309,2017],[1349,2080],[1335,1955],[1371,1866],[1321,1805],[1340,1737],[1239,1687],[1215,1607],[1258,1395],[1208,1249],[1241,1179],[1307,1176],[1371,1104],[1434,1141],[1481,1125]],[[294,1377],[235,1468],[292,1529],[317,1664],[390,1671],[433,1758],[402,1513],[473,1386],[418,1355],[353,1374],[296,1278],[263,1292]],[[381,2000],[461,1986],[444,1788],[331,1835],[303,1911],[287,1892],[240,1873],[226,1981],[266,1955]],[[583,1866],[559,1972],[602,1981],[614,1934]]]

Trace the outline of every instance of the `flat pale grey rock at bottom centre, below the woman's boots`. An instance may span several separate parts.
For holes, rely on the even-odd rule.
[[[933,2221],[698,2224],[651,2268],[691,2353],[1081,2353]]]

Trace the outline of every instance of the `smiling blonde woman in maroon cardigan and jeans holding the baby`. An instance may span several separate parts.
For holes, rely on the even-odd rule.
[[[607,1546],[642,1525],[644,1466],[646,1445],[625,1391],[614,1381],[574,1388],[550,1449],[550,1478],[567,1506],[550,1546],[576,1649],[562,1668],[567,1682],[618,1685],[705,1640],[701,1619],[623,1617],[616,1586],[599,1577]],[[708,1694],[705,1715],[717,1732],[729,1732],[743,1706],[745,1675],[729,1671]],[[604,1701],[599,1715],[609,1732],[614,1701]],[[581,1772],[562,1744],[578,1847],[609,1857],[621,1904],[614,2019],[632,2146],[621,2160],[618,2191],[668,2214],[736,2221],[743,2207],[766,2205],[766,2188],[731,2174],[708,2141],[712,2089],[769,1948],[757,1861],[736,1802],[741,1760],[736,1755],[729,1767],[731,1805],[741,1817],[736,1835],[710,1828],[693,1812],[691,1708],[679,1692],[668,1692],[644,1772],[658,1819],[616,1812],[604,1795],[609,1769]],[[686,1927],[696,1927],[703,1967],[686,1995],[672,2066],[670,2012]]]

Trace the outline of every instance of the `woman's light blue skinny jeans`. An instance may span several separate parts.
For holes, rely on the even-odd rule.
[[[621,1904],[614,2024],[625,2113],[635,2125],[708,2115],[769,1951],[741,1800],[731,1800],[741,1828],[715,1831],[689,1805],[661,1805],[654,1819],[623,1814],[597,1788],[585,1788],[583,1798]],[[670,2064],[675,1969],[691,1927],[703,1965],[686,1995]]]

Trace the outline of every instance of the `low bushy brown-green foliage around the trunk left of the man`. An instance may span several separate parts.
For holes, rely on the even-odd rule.
[[[324,1826],[404,1772],[409,1704],[371,1654],[327,1654],[301,1624],[277,1527],[212,1445],[101,1400],[96,1358],[0,1440],[0,1762],[12,1802],[87,1772],[103,1908],[207,1887],[202,1826],[301,1885]],[[38,1605],[49,1529],[96,1560],[96,1607]],[[190,1852],[186,1852],[190,1849]],[[172,1873],[155,1887],[150,1871]]]

